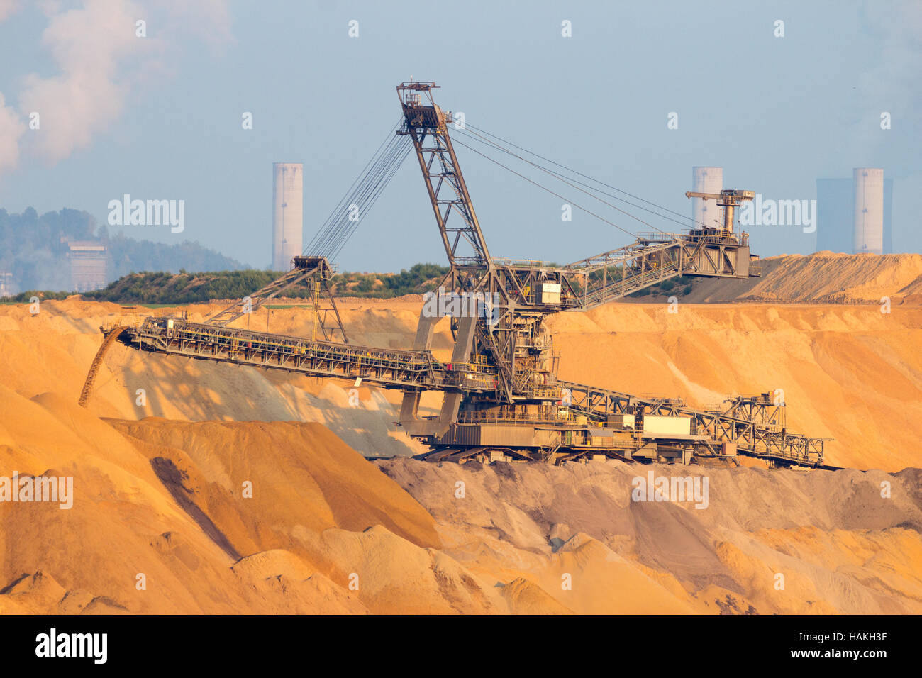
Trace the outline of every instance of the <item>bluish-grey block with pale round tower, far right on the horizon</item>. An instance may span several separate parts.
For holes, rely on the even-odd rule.
[[[881,196],[878,188],[868,190],[863,172],[870,170],[857,168],[851,179],[816,180],[818,251],[892,254],[893,180],[882,179]],[[881,172],[882,178],[882,170],[877,172]],[[861,187],[860,199],[857,199],[857,186]],[[869,211],[866,212],[866,208]],[[858,240],[861,242],[857,243]],[[878,245],[874,246],[875,243]]]

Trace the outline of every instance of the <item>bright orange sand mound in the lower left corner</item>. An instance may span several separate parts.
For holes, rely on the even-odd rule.
[[[213,609],[225,588],[229,605],[254,602],[246,591],[232,590],[231,559],[173,503],[147,458],[124,438],[109,438],[103,433],[109,427],[81,408],[69,410],[63,399],[54,408],[55,398],[41,399],[53,409],[0,388],[11,440],[0,447],[0,469],[73,478],[69,509],[60,502],[0,504],[0,583],[42,572],[67,594],[64,610],[30,597],[30,612],[67,612],[77,603],[80,612],[92,612],[83,608],[95,600],[94,608],[104,602],[132,612],[200,613]],[[61,420],[68,418],[77,425],[65,426]],[[93,429],[104,445],[83,440]],[[174,535],[172,548],[182,557],[157,550],[164,532]],[[146,588],[136,588],[144,582]]]

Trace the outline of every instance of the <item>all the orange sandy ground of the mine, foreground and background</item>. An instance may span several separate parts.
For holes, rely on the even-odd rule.
[[[847,303],[817,303],[828,280],[801,293],[766,276],[746,294],[783,303],[550,320],[565,379],[692,405],[784,389],[789,428],[835,438],[827,461],[852,467],[834,472],[370,462],[422,449],[394,425],[396,392],[362,387],[350,406],[348,384],[122,346],[84,409],[98,328],[131,311],[0,305],[0,476],[75,488],[70,509],[0,503],[0,613],[922,612],[922,268],[903,257],[869,259]],[[837,262],[840,290],[857,258]],[[407,348],[420,300],[340,309],[355,341]],[[266,321],[310,331],[302,307],[250,319]],[[632,501],[651,470],[706,477],[707,507]]]

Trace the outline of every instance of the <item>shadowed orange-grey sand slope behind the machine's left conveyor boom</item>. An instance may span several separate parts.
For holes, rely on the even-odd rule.
[[[192,320],[219,310],[219,304],[189,308]],[[140,309],[142,313],[150,313]],[[272,310],[270,329],[308,335],[310,323],[301,308]],[[412,343],[418,303],[406,309],[363,303],[344,309],[350,331],[370,345]],[[76,394],[100,345],[99,327],[135,316],[112,303],[79,301],[41,303],[38,315],[28,304],[0,305],[0,383],[29,397],[46,391]],[[265,327],[266,315],[256,318]],[[245,323],[242,323],[245,327]],[[254,322],[255,326],[255,322]],[[388,333],[389,332],[389,333]],[[448,346],[441,335],[437,346]],[[447,349],[443,348],[443,351]],[[396,394],[359,389],[349,406],[350,385],[250,367],[196,363],[152,357],[117,345],[107,356],[89,410],[101,416],[174,420],[320,422],[349,446],[366,455],[417,454],[422,450],[396,432],[392,403]],[[138,404],[143,389],[143,404]],[[427,397],[427,402],[435,398]]]

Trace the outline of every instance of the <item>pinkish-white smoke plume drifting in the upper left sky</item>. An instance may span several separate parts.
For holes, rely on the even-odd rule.
[[[14,168],[20,155],[53,164],[87,148],[123,113],[134,89],[170,73],[164,62],[171,59],[171,43],[187,37],[183,33],[213,45],[231,39],[224,0],[143,5],[84,0],[68,6],[52,1],[40,6],[48,18],[41,47],[51,54],[57,73],[23,74],[17,111],[9,94],[5,100],[0,93],[0,172]],[[0,20],[17,9],[15,0],[0,0]],[[136,34],[138,20],[146,22],[146,37]],[[23,137],[32,113],[39,114],[40,129]]]

